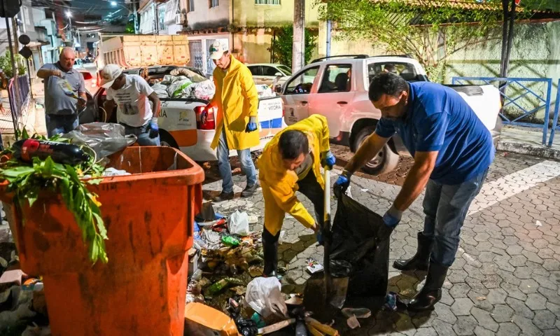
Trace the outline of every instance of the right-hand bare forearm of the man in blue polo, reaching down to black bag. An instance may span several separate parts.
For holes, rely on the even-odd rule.
[[[416,200],[426,187],[430,175],[435,167],[439,152],[416,152],[414,165],[405,179],[393,206],[399,211],[405,211]]]

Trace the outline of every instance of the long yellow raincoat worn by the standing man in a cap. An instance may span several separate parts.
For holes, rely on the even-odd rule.
[[[216,149],[222,130],[228,140],[230,150],[241,150],[258,146],[259,131],[245,132],[249,117],[258,114],[258,93],[251,71],[231,56],[228,72],[214,69],[216,94],[211,104],[218,107],[216,135],[211,148]]]

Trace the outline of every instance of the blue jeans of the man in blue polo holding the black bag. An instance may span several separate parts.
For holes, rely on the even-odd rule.
[[[434,238],[430,262],[449,267],[455,261],[463,222],[486,174],[488,169],[470,181],[453,186],[428,181],[423,201],[426,214],[423,235]]]

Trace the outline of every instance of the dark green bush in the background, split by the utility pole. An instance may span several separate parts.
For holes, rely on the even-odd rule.
[[[305,29],[305,63],[311,60],[313,51],[317,48],[317,39],[309,29]],[[269,51],[272,52],[274,62],[292,67],[293,26],[284,26],[276,31],[276,40]]]

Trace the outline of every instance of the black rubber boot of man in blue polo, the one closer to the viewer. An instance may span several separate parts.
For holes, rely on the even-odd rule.
[[[433,306],[442,298],[442,286],[447,276],[448,268],[434,262],[430,263],[426,283],[424,283],[422,290],[409,302],[407,307],[409,311],[433,309]]]

